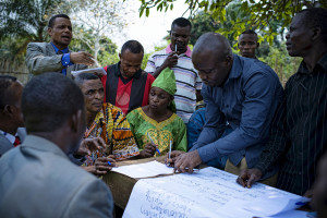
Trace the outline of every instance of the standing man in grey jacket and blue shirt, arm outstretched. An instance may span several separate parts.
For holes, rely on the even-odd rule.
[[[50,43],[29,43],[26,51],[26,64],[32,74],[59,72],[71,77],[71,71],[86,69],[94,64],[87,52],[71,52],[72,24],[65,14],[57,14],[49,20]]]

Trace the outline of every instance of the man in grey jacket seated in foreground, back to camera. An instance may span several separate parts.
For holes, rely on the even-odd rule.
[[[112,217],[108,186],[68,158],[85,131],[78,86],[59,73],[35,76],[22,112],[27,136],[0,158],[0,217]]]

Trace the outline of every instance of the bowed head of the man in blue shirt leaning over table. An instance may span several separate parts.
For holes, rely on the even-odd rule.
[[[206,85],[221,86],[233,64],[232,49],[222,35],[207,33],[197,39],[192,62]]]

